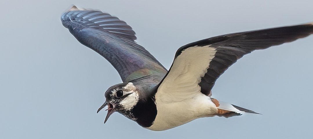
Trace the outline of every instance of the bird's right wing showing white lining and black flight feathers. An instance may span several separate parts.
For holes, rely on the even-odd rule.
[[[197,93],[211,95],[220,75],[245,54],[292,42],[313,33],[313,23],[233,33],[187,44],[156,90],[162,101],[181,101]]]

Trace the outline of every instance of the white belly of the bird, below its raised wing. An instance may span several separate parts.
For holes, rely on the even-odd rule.
[[[212,117],[218,111],[210,97],[201,93],[191,99],[171,103],[156,98],[156,108],[156,119],[147,128],[153,131],[171,129],[201,117]]]

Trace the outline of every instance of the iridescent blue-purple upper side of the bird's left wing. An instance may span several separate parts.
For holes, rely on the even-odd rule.
[[[135,32],[119,18],[73,6],[61,21],[81,44],[107,59],[123,82],[151,76],[162,79],[167,73],[156,58],[135,42]]]

